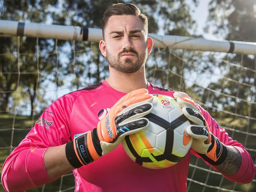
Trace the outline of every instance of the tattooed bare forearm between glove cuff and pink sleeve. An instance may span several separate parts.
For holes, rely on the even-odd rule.
[[[226,148],[228,150],[228,154],[225,161],[215,167],[219,170],[219,172],[221,172],[221,174],[226,176],[232,176],[236,174],[239,167],[241,166],[242,157],[240,152],[236,148],[232,146],[226,146]]]

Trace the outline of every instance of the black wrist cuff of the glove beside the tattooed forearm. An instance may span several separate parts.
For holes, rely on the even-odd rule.
[[[216,153],[217,157],[219,157],[217,159],[217,161],[213,161],[213,159],[207,157],[204,154],[198,153],[198,155],[200,155],[205,161],[209,162],[211,165],[214,165],[214,166],[220,165],[225,161],[227,154],[228,154],[228,150],[226,148],[226,145],[223,144],[219,140],[219,138],[215,137],[214,135],[211,135],[211,140],[212,140],[212,145],[208,149],[208,152],[213,148],[213,145],[216,144],[217,147],[216,147],[215,153]]]

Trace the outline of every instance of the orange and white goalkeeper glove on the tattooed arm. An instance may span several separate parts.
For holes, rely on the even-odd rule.
[[[193,137],[191,148],[212,165],[223,163],[227,148],[210,132],[210,127],[198,104],[184,92],[175,92],[173,96],[184,115],[194,123],[186,128],[186,134]]]

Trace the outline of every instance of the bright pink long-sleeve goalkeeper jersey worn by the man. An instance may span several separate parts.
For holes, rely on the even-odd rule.
[[[173,97],[173,91],[148,83],[150,94]],[[52,103],[39,117],[33,129],[6,159],[2,184],[7,191],[24,191],[52,181],[46,172],[44,154],[47,148],[65,144],[75,134],[97,126],[117,100],[125,93],[111,88],[106,81],[71,92]],[[227,177],[231,181],[249,183],[255,175],[254,163],[243,145],[220,128],[210,114],[202,109],[211,132],[226,145],[240,151],[242,164],[238,172]],[[192,151],[197,157],[200,157]],[[182,191],[186,192],[190,153],[175,166],[152,170],[133,162],[120,145],[99,160],[73,170],[76,192],[99,191]],[[161,183],[160,185],[158,183]]]

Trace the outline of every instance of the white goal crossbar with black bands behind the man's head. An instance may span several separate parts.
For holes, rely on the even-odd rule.
[[[96,28],[46,25],[7,20],[0,20],[0,34],[89,42],[99,42],[103,38],[102,30]],[[173,49],[185,50],[226,52],[247,55],[256,54],[256,43],[252,42],[212,41],[203,38],[156,35],[153,33],[149,33],[148,36],[154,40],[154,46],[159,48],[170,47]]]

